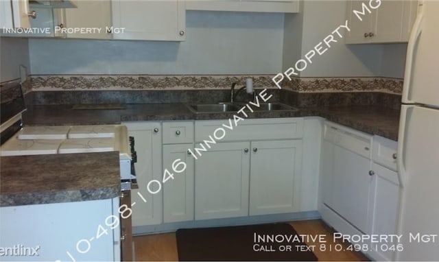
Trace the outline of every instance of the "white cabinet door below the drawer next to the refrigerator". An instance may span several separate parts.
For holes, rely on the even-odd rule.
[[[399,180],[395,171],[372,163],[369,235],[395,235],[399,209]],[[381,244],[381,243],[380,243]],[[387,246],[398,243],[385,243]],[[394,252],[385,246],[372,247],[371,256],[377,261],[393,261]],[[376,252],[375,252],[376,251]]]

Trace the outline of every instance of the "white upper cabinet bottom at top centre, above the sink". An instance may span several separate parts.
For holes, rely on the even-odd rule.
[[[188,0],[187,10],[238,12],[299,12],[298,0]]]

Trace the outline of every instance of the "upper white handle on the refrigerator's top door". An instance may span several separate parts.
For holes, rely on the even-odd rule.
[[[405,72],[404,72],[404,84],[403,84],[403,93],[402,93],[402,102],[407,104],[414,103],[409,99],[409,91],[411,86],[411,77],[412,77],[412,67],[413,67],[413,56],[415,53],[416,41],[422,32],[422,22],[424,18],[424,9],[423,5],[418,5],[418,15],[416,16],[416,20],[414,21],[414,25],[412,27],[412,32],[410,33],[409,43],[407,45],[407,58],[405,60]]]

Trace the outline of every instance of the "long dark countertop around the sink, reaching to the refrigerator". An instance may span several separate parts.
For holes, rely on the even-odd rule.
[[[118,124],[121,121],[227,119],[232,113],[198,113],[185,104],[126,104],[125,109],[73,110],[72,105],[31,106],[23,115],[27,126]],[[305,107],[292,111],[255,112],[248,118],[324,117],[329,121],[398,139],[399,110],[377,106]]]

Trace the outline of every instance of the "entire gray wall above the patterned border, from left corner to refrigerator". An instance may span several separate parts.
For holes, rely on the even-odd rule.
[[[275,75],[344,23],[346,1],[306,1],[301,8],[285,14],[285,23],[276,13],[188,11],[180,43],[30,39],[32,74]],[[340,41],[301,76],[403,78],[406,47]]]

